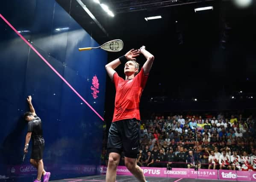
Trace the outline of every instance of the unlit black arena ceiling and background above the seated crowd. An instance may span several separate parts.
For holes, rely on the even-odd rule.
[[[239,90],[256,93],[255,1],[241,9],[232,0],[100,0],[114,12],[115,17],[110,17],[93,0],[82,0],[107,33],[77,0],[56,1],[98,43],[115,38],[124,41],[124,50],[109,53],[108,61],[141,45],[153,53],[144,98],[215,99]],[[194,12],[194,8],[208,5],[214,9]],[[162,19],[144,20],[155,15]],[[142,56],[138,62],[143,64]],[[117,72],[124,75],[122,68]],[[111,103],[114,93],[108,79],[106,95]]]

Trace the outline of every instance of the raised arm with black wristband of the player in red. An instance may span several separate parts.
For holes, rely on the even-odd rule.
[[[106,64],[105,68],[111,80],[113,80],[113,75],[115,70],[122,62],[126,62],[128,60],[136,61],[138,54],[138,50],[131,49],[124,56],[111,61],[109,64]]]

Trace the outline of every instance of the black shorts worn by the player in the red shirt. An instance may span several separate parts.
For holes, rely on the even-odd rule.
[[[140,147],[140,121],[124,119],[112,122],[109,128],[108,152],[115,152],[136,159]]]

